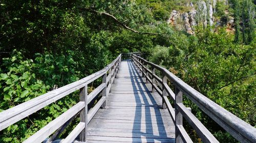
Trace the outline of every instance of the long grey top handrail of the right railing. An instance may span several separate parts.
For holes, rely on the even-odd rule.
[[[158,66],[154,63],[148,62],[136,55],[136,58],[144,61],[168,77],[168,79],[175,84],[186,96],[196,103],[200,109],[202,109],[211,119],[217,122],[221,127],[223,127],[227,132],[229,132],[234,138],[240,142],[256,142],[256,129],[238,117],[234,116],[231,112],[222,108],[215,102],[206,98],[204,95],[191,88],[188,84],[182,81],[180,78],[175,76],[169,70]]]

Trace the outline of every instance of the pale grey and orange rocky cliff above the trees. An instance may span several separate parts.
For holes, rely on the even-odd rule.
[[[227,30],[233,31],[233,17],[229,16],[226,19],[214,17],[214,13],[217,11],[217,1],[225,1],[224,4],[228,5],[227,0],[205,0],[198,1],[196,4],[190,2],[186,5],[190,7],[189,12],[182,13],[173,10],[167,22],[174,25],[178,30],[185,30],[189,34],[194,33],[194,27],[199,23],[204,26],[227,26]],[[195,5],[197,8],[195,8]]]

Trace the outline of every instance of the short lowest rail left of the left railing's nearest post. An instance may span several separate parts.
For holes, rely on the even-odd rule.
[[[79,135],[79,133],[86,127],[84,122],[78,123],[78,125],[71,131],[71,133],[61,143],[71,143]],[[84,140],[85,141],[85,140]]]

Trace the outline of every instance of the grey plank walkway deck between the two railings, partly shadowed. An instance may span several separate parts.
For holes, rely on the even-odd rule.
[[[162,98],[144,81],[131,60],[121,62],[106,109],[99,109],[88,125],[87,142],[175,142]]]

